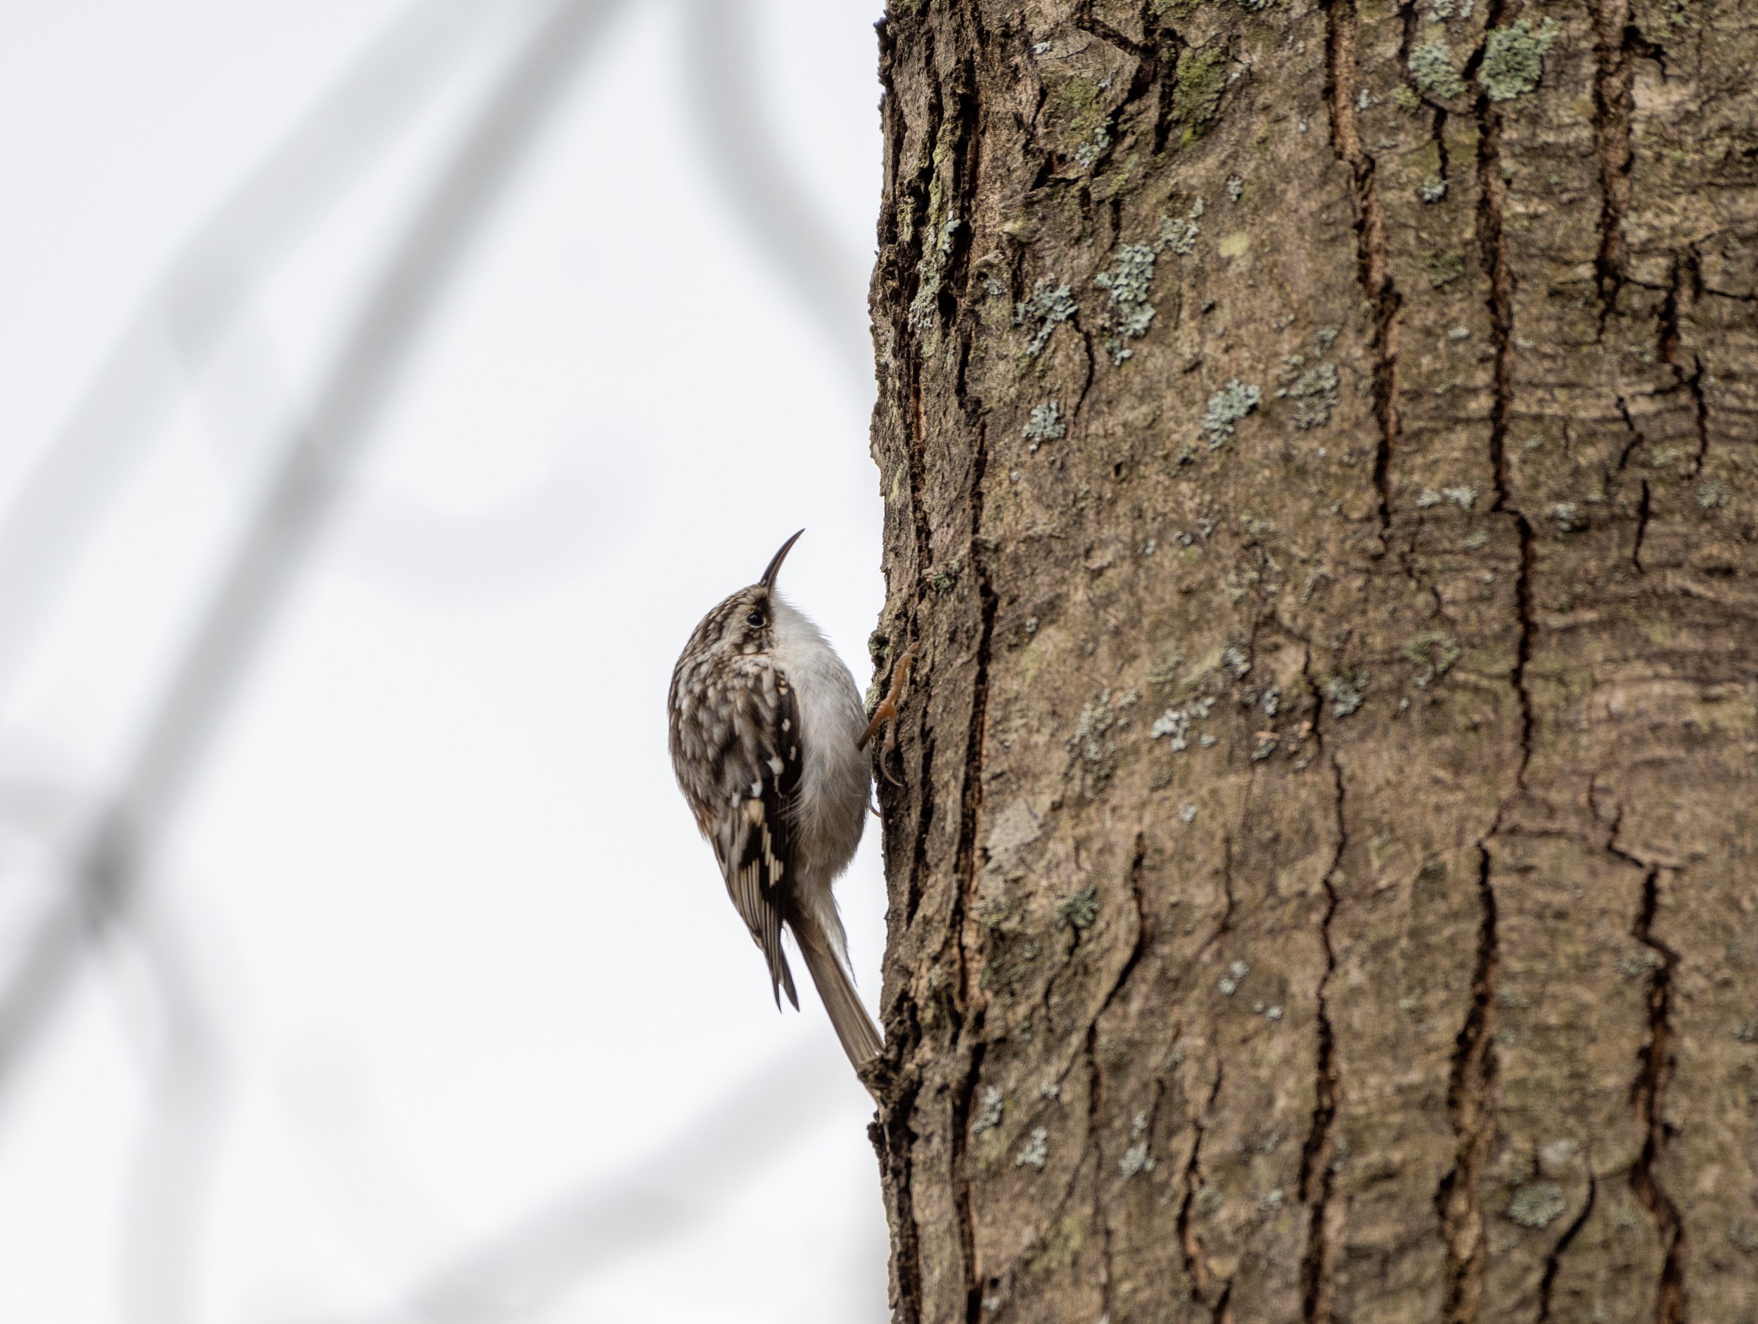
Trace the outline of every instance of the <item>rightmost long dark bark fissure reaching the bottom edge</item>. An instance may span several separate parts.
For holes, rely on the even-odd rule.
[[[1679,971],[1679,953],[1654,935],[1658,911],[1660,869],[1649,867],[1642,877],[1642,909],[1630,930],[1630,935],[1653,953],[1647,986],[1647,1037],[1637,1053],[1637,1078],[1630,1087],[1630,1102],[1644,1125],[1642,1153],[1630,1171],[1630,1187],[1649,1217],[1654,1219],[1654,1229],[1660,1234],[1661,1269],[1654,1299],[1654,1324],[1684,1324],[1689,1319],[1689,1296],[1684,1280],[1684,1220],[1654,1171],[1670,1136],[1665,1099],[1674,1071],[1672,992]]]

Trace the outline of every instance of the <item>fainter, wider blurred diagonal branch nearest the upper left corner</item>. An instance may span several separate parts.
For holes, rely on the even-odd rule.
[[[179,369],[207,357],[260,267],[374,160],[487,23],[533,2],[410,4],[181,246],[0,522],[0,689],[105,498],[176,401]]]

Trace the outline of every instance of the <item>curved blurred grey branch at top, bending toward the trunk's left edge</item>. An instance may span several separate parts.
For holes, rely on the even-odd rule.
[[[805,304],[858,389],[872,387],[865,271],[788,171],[763,114],[751,0],[684,0],[684,84],[703,165],[745,236]]]

